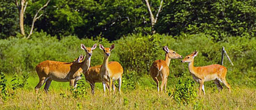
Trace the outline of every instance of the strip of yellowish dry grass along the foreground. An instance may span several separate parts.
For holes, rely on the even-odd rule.
[[[7,77],[11,81],[10,77]],[[144,77],[147,81],[149,77]],[[6,102],[0,99],[1,109],[255,109],[255,88],[233,86],[229,93],[226,88],[217,92],[216,87],[205,88],[205,96],[198,96],[188,105],[177,103],[168,94],[157,94],[156,87],[138,86],[137,89],[125,91],[121,95],[106,95],[102,93],[102,85],[96,83],[95,95],[91,94],[87,84],[87,95],[83,98],[73,98],[68,82],[53,81],[49,94],[35,94],[34,86],[38,79],[30,77],[26,88],[19,88],[14,98]],[[148,79],[148,81],[150,81]],[[152,81],[153,82],[153,81]],[[154,84],[150,82],[150,84]],[[149,85],[150,85],[149,84]],[[198,84],[196,85],[198,86]],[[169,92],[173,87],[169,86]],[[60,95],[62,94],[62,95]]]

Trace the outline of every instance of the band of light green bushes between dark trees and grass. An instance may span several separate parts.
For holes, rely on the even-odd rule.
[[[154,40],[152,41],[152,38]],[[61,62],[72,62],[80,54],[85,54],[80,48],[80,44],[93,46],[102,44],[110,46],[108,40],[98,37],[98,39],[78,39],[75,36],[63,37],[58,40],[46,33],[35,33],[32,39],[9,38],[0,40],[0,69],[5,73],[31,73],[36,75],[35,66],[44,60],[56,60]],[[152,62],[157,59],[164,59],[165,54],[161,49],[167,45],[182,56],[190,54],[194,50],[199,50],[195,58],[195,66],[210,64],[221,64],[221,48],[224,46],[228,52],[234,66],[224,58],[224,66],[228,68],[227,81],[232,84],[246,84],[255,86],[255,65],[256,65],[256,39],[244,37],[226,37],[218,43],[213,42],[210,35],[183,34],[178,38],[167,35],[142,36],[129,35],[117,41],[110,56],[110,61],[117,61],[125,69],[124,75],[130,81],[138,81],[138,77],[148,75]],[[103,52],[99,48],[93,50],[91,65],[102,64]],[[189,75],[188,64],[182,64],[181,60],[171,60],[169,82],[177,81],[175,77],[182,77],[182,74]],[[190,76],[190,75],[189,75]],[[129,80],[123,80],[128,81]],[[168,83],[169,83],[168,82]],[[127,85],[127,88],[135,88],[136,82]],[[214,85],[213,85],[214,86]]]

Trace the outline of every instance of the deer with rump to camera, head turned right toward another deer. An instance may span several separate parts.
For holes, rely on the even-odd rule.
[[[150,76],[156,82],[156,86],[159,92],[159,82],[161,81],[161,92],[163,92],[163,86],[165,86],[165,93],[166,93],[166,86],[167,86],[167,79],[169,76],[169,65],[171,59],[182,58],[177,52],[173,50],[169,50],[167,46],[163,46],[163,50],[165,51],[165,60],[156,60],[150,67]]]

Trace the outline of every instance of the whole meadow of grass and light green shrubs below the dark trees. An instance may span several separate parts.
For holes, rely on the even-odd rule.
[[[121,94],[107,93],[104,96],[102,84],[96,83],[93,96],[89,84],[84,79],[79,81],[76,90],[70,88],[69,82],[53,81],[49,94],[43,91],[44,86],[39,90],[39,94],[35,94],[34,88],[39,81],[35,66],[44,60],[72,62],[80,54],[85,54],[80,48],[81,43],[87,47],[95,43],[103,44],[105,47],[113,43],[116,45],[110,61],[120,62],[123,66]],[[232,92],[229,93],[223,84],[223,90],[219,92],[214,82],[209,81],[205,82],[205,96],[198,95],[199,84],[193,81],[188,71],[188,64],[182,64],[179,59],[171,60],[167,93],[158,94],[156,83],[148,71],[154,60],[165,58],[162,50],[165,45],[182,56],[199,50],[195,58],[195,66],[221,64],[221,48],[224,46],[234,63],[233,66],[227,58],[224,58],[224,66],[228,69],[226,80],[232,87]],[[211,36],[205,34],[184,34],[179,37],[158,34],[129,35],[110,42],[101,37],[78,39],[75,36],[68,36],[57,39],[41,32],[34,33],[32,39],[3,39],[0,40],[0,70],[5,77],[1,75],[0,79],[0,107],[1,109],[255,109],[255,45],[256,39],[246,36],[226,37],[214,41]],[[102,64],[102,57],[102,50],[97,47],[93,50],[91,66]]]

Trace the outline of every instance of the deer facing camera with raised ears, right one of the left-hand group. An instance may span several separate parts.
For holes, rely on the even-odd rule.
[[[104,48],[103,45],[99,45],[100,49],[104,51],[104,60],[103,64],[100,67],[100,78],[102,80],[104,94],[106,92],[106,83],[109,86],[109,91],[111,93],[113,81],[118,80],[119,84],[119,92],[121,93],[121,79],[123,75],[123,67],[118,62],[110,62],[108,63],[108,58],[110,57],[111,50],[114,49],[115,45],[111,45],[110,48]],[[114,86],[113,89],[115,90]]]

